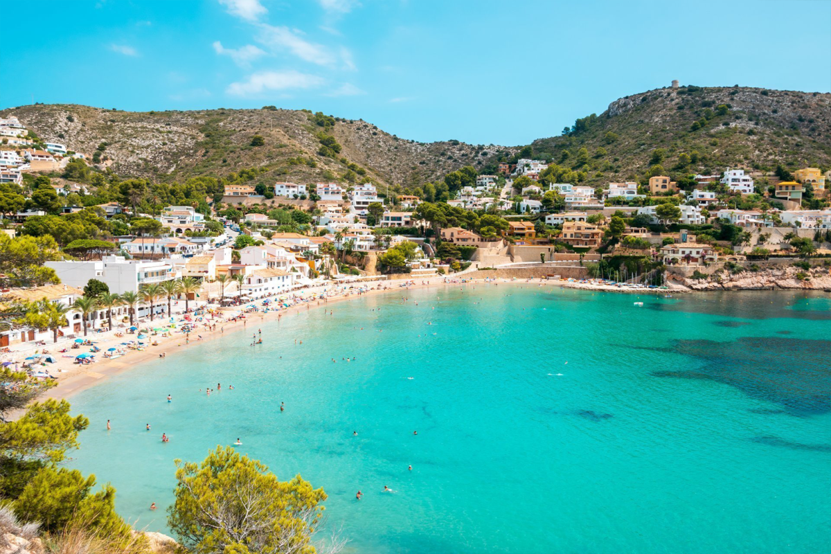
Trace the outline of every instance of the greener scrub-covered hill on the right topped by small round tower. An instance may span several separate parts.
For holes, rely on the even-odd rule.
[[[693,130],[696,121],[703,126]],[[739,86],[658,89],[613,101],[601,115],[575,122],[568,135],[531,146],[535,158],[582,167],[591,184],[633,180],[655,163],[671,174],[776,164],[828,169],[831,95]],[[588,150],[588,164],[581,165],[581,148]],[[679,164],[681,154],[691,156],[690,163],[682,156]]]

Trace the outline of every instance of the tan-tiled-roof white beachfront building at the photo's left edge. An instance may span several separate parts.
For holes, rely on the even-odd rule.
[[[66,284],[45,285],[32,288],[12,288],[0,294],[0,302],[4,304],[10,302],[40,302],[46,299],[48,302],[58,302],[63,306],[69,307],[78,298],[83,296],[84,292],[77,287],[70,287]],[[63,336],[71,335],[75,332],[83,332],[80,312],[70,309],[70,311],[66,312],[66,321],[68,325],[61,326],[57,330],[58,340]],[[54,341],[54,337],[55,335],[52,329],[15,326],[0,332],[0,347],[5,348],[6,346],[32,341],[42,341],[43,343],[49,344]]]

